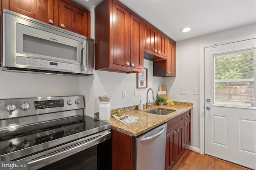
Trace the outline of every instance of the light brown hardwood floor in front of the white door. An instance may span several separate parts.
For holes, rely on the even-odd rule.
[[[173,170],[249,170],[247,168],[188,150]]]

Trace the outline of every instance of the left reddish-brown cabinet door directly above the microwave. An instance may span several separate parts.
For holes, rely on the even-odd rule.
[[[46,23],[54,20],[54,0],[9,0],[9,10]]]

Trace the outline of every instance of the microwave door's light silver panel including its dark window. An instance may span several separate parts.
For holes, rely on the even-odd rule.
[[[80,41],[16,23],[16,52],[18,55],[80,64],[80,51]]]

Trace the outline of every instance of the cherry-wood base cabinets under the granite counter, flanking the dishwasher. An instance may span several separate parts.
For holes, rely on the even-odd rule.
[[[166,134],[165,170],[171,170],[190,146],[191,111],[170,120]],[[112,170],[134,170],[134,139],[112,129]]]

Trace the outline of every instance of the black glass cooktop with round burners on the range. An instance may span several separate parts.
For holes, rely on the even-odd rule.
[[[68,137],[72,141],[109,128],[109,123],[84,115],[10,127],[0,130],[0,152],[6,154],[62,138],[67,141]]]

